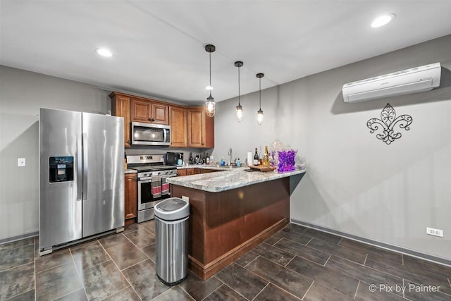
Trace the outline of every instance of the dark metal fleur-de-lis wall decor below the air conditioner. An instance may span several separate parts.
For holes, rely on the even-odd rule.
[[[391,142],[395,141],[395,139],[400,139],[402,136],[401,133],[395,133],[395,125],[399,125],[400,128],[404,128],[405,130],[410,130],[409,125],[412,123],[413,119],[410,115],[401,115],[396,117],[395,109],[393,109],[390,104],[387,104],[385,108],[383,108],[381,112],[381,119],[371,118],[366,126],[370,129],[369,133],[374,133],[375,130],[378,130],[379,126],[382,127],[382,133],[377,134],[376,137],[387,145],[390,145]]]

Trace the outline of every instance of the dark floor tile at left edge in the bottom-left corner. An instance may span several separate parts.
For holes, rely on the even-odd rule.
[[[0,272],[0,300],[35,289],[35,264],[17,266]]]

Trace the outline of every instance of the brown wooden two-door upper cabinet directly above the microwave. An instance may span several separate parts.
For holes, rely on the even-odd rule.
[[[130,114],[132,121],[169,124],[169,106],[160,102],[131,97]]]

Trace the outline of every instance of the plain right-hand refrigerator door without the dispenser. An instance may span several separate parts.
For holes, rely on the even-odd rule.
[[[124,226],[123,118],[82,113],[82,236]]]

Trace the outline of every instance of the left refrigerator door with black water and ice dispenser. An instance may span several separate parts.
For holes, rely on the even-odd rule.
[[[39,250],[82,238],[81,130],[80,112],[39,109]]]

